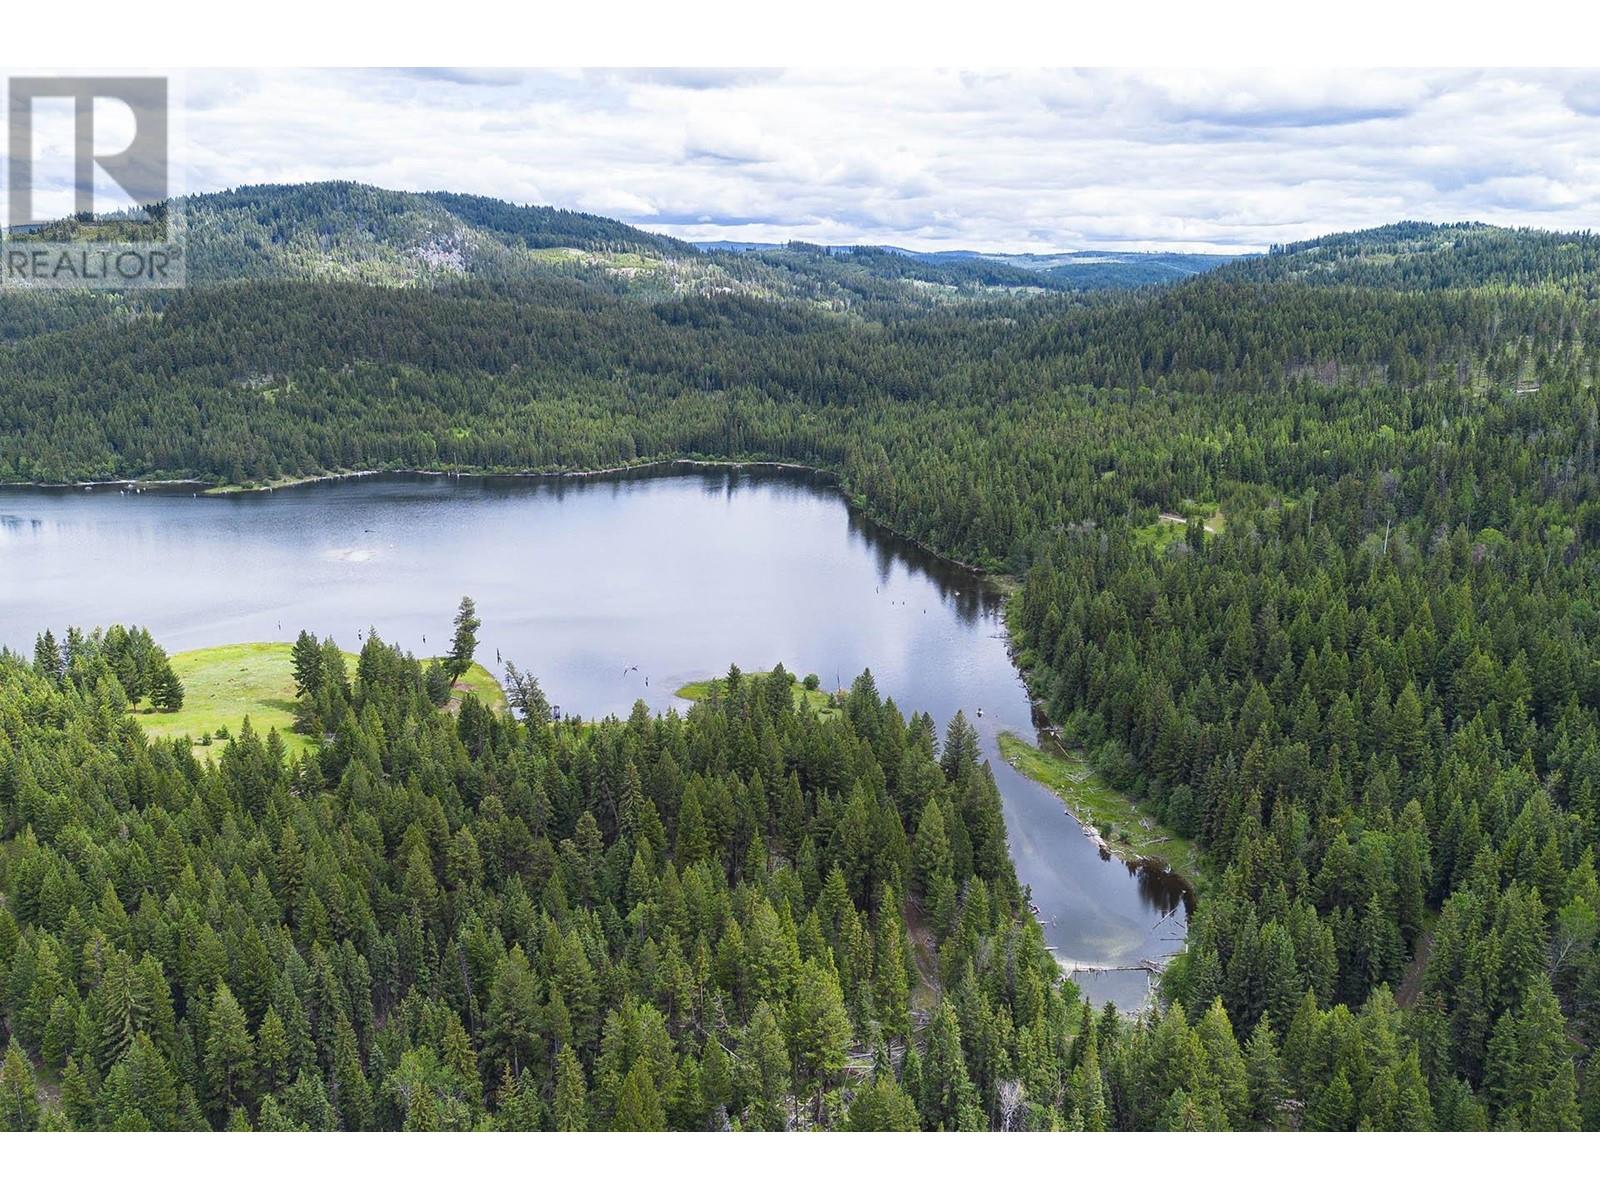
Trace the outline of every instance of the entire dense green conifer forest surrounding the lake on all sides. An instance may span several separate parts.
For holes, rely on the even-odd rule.
[[[970,728],[869,677],[837,718],[734,672],[552,723],[368,638],[322,750],[202,766],[74,637],[0,662],[0,1123],[1600,1128],[1594,245],[1395,226],[942,304],[0,301],[8,480],[830,470],[1016,581],[1051,720],[1211,878],[1126,1021],[1045,950]]]

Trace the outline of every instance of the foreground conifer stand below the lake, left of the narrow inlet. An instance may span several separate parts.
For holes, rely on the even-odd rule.
[[[0,661],[0,1128],[1104,1120],[976,738],[870,675],[586,726],[522,678],[438,710],[370,637],[301,701],[325,749],[202,766],[45,646]]]

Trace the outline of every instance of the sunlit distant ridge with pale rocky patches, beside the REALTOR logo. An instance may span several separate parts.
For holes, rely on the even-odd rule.
[[[1107,251],[923,253],[803,242],[694,245],[590,213],[352,181],[254,184],[192,195],[184,206],[189,282],[195,285],[570,278],[642,299],[744,294],[850,310],[1170,283],[1230,261]]]

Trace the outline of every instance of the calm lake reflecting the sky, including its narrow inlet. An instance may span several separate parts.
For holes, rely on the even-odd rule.
[[[1181,882],[1102,856],[1000,757],[997,734],[1026,736],[1034,718],[998,592],[853,514],[810,474],[386,475],[237,496],[0,488],[0,645],[27,653],[46,626],[120,621],[170,650],[301,629],[355,648],[376,627],[435,654],[464,594],[483,618],[478,661],[533,670],[563,714],[626,715],[635,699],[685,707],[678,686],[731,662],[782,662],[824,686],[870,667],[883,696],[941,731],[965,710],[1056,955],[1134,966],[1181,946]],[[1077,978],[1096,1003],[1123,1008],[1149,982],[1142,971]]]

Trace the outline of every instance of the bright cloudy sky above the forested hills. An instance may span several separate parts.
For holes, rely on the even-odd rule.
[[[694,240],[1259,250],[1600,226],[1600,74],[211,72],[184,186],[360,179]]]

